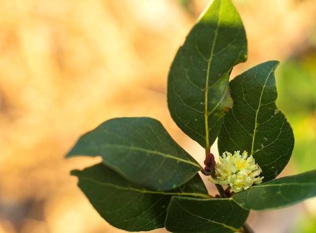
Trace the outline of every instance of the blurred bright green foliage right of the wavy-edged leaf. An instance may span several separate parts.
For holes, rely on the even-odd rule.
[[[313,169],[316,145],[316,49],[288,60],[277,70],[278,105],[291,122],[292,162],[299,172]]]

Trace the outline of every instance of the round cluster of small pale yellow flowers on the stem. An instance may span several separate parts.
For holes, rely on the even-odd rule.
[[[259,184],[264,177],[259,177],[261,168],[255,163],[252,155],[248,157],[247,151],[242,155],[235,151],[234,155],[224,152],[220,156],[221,163],[215,164],[215,176],[209,178],[210,182],[219,185],[229,185],[234,193],[248,189],[253,184]]]

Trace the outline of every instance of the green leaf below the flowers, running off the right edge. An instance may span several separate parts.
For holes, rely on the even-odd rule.
[[[316,170],[251,186],[233,199],[246,209],[265,210],[293,205],[316,196]]]

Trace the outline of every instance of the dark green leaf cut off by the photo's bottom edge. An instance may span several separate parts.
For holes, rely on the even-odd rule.
[[[226,233],[239,231],[249,214],[232,199],[172,197],[166,229],[179,233]]]

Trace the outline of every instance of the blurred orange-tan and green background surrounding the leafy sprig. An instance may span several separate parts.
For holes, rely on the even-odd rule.
[[[201,164],[204,151],[173,123],[167,76],[206,0],[0,0],[0,233],[125,232],[110,226],[64,159],[83,133],[121,116],[151,116]],[[248,61],[277,69],[278,106],[295,134],[280,176],[316,167],[316,4],[234,0]],[[212,150],[216,153],[216,147]],[[316,199],[251,212],[255,232],[316,232]],[[157,229],[152,232],[166,232]]]

